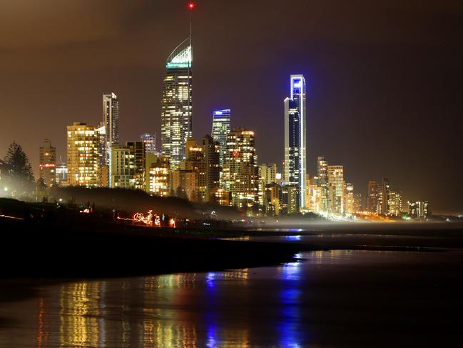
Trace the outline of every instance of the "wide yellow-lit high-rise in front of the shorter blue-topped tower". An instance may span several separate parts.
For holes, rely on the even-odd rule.
[[[258,204],[259,176],[253,131],[237,128],[228,134],[223,182],[233,206],[250,208]]]

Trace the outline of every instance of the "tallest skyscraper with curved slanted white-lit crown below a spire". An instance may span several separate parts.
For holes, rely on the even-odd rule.
[[[185,159],[185,142],[193,136],[193,55],[190,39],[182,41],[168,56],[161,109],[162,154],[177,169]]]

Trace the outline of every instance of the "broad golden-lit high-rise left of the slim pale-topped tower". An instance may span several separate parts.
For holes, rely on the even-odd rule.
[[[99,158],[98,133],[94,126],[74,122],[67,126],[68,184],[70,186],[98,187]]]

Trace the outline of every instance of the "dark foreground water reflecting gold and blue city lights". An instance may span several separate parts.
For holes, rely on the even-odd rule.
[[[462,347],[462,252],[297,257],[225,272],[5,280],[0,347]]]

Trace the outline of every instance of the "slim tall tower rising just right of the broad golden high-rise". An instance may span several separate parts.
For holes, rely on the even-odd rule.
[[[105,165],[111,165],[111,145],[119,143],[119,99],[114,93],[103,93],[103,126],[106,146],[104,149]]]

